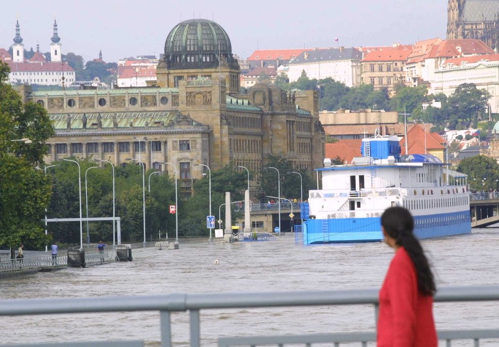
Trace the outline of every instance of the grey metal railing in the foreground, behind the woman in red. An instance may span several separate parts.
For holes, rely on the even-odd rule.
[[[177,293],[169,295],[146,297],[93,297],[93,298],[43,298],[29,300],[0,301],[0,316],[36,315],[59,313],[98,313],[120,311],[159,311],[161,346],[170,347],[171,313],[189,311],[190,346],[201,345],[200,313],[205,309],[250,309],[261,307],[291,307],[291,306],[335,306],[335,305],[366,305],[375,308],[373,317],[378,315],[377,289],[364,290],[328,290],[328,291],[284,291],[284,292],[240,292],[240,293],[204,293],[187,294]],[[447,287],[440,288],[434,298],[435,302],[463,302],[463,301],[499,301],[499,286],[480,287]],[[480,314],[480,312],[477,312]],[[26,320],[29,318],[26,318]],[[133,324],[133,323],[130,323]],[[222,332],[223,333],[223,332]],[[472,339],[475,346],[480,345],[484,338],[499,338],[499,329],[487,330],[446,330],[438,331],[439,340],[445,340],[447,346],[457,339]],[[336,334],[307,334],[307,335],[276,335],[276,336],[224,336],[218,338],[218,346],[228,347],[235,345],[265,345],[287,343],[301,343],[311,346],[312,343],[335,343],[338,346],[343,342],[375,341],[375,332],[336,333]],[[9,342],[9,341],[3,341]],[[138,343],[134,345],[143,345]],[[94,345],[116,345],[116,342],[103,342]],[[120,341],[119,343],[127,343]],[[24,344],[36,345],[36,344]],[[55,345],[51,343],[51,345]],[[63,344],[60,344],[63,345]],[[65,344],[67,345],[67,343]],[[124,344],[122,344],[124,345]]]

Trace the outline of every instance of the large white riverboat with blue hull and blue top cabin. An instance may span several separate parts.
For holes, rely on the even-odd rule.
[[[302,211],[305,244],[381,241],[390,206],[411,211],[419,238],[471,232],[466,175],[430,154],[401,156],[396,136],[363,139],[361,151],[352,164],[326,159],[317,169],[322,189],[309,192]]]

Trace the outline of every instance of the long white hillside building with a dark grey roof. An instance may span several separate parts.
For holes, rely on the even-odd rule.
[[[289,63],[285,73],[289,82],[295,82],[305,71],[309,78],[331,77],[348,87],[353,87],[362,83],[361,59],[362,52],[353,47],[307,50]]]

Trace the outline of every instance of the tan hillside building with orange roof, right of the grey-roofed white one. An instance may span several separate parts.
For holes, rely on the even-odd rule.
[[[404,66],[411,49],[399,47],[370,51],[361,60],[362,83],[372,85],[375,90],[387,88],[388,92],[393,91],[396,83],[404,83]]]

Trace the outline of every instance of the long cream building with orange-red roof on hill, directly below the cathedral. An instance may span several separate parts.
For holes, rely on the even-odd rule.
[[[406,85],[418,86],[435,79],[435,71],[449,58],[494,54],[494,50],[480,40],[442,40],[434,38],[417,42],[407,57]]]

